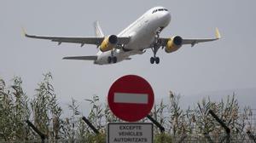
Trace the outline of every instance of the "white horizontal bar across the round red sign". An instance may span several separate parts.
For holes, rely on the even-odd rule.
[[[113,102],[148,104],[148,94],[114,93]]]

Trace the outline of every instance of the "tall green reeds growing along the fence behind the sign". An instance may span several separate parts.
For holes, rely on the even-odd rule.
[[[209,110],[215,112],[230,128],[231,140],[249,140],[246,133],[256,133],[252,110],[249,107],[241,109],[235,94],[219,102],[213,102],[210,98],[203,99],[187,110],[180,107],[179,99],[180,95],[170,92],[168,102],[160,101],[154,105],[150,115],[166,129],[165,133],[161,133],[160,129],[154,127],[154,142],[223,142],[226,138],[225,131],[208,114]],[[40,136],[27,126],[26,120],[32,121],[51,142],[105,142],[106,124],[120,121],[110,112],[106,101],[103,100],[105,104],[102,104],[97,95],[86,100],[90,104],[90,112],[86,118],[99,129],[100,134],[95,134],[84,123],[79,105],[74,99],[68,105],[72,116],[61,116],[63,111],[58,105],[50,73],[44,74],[32,99],[28,99],[25,94],[20,77],[14,77],[11,85],[6,85],[0,78],[0,142],[40,141]],[[150,121],[144,118],[141,122]]]

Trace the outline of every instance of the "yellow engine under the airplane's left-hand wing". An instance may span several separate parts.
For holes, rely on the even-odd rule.
[[[100,49],[102,52],[109,51],[113,49],[116,44],[118,43],[118,38],[115,35],[110,35],[108,37],[105,37],[102,41],[102,44],[100,45]]]

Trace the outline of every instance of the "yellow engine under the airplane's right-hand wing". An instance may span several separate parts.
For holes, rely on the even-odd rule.
[[[171,37],[166,44],[166,53],[172,53],[183,45],[183,38],[176,36]]]

